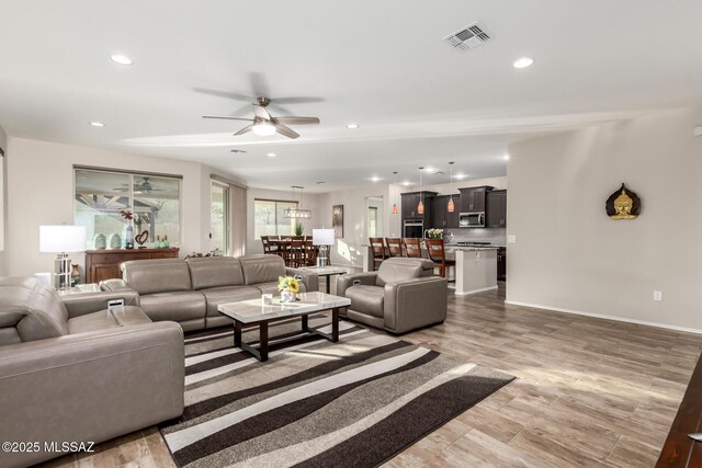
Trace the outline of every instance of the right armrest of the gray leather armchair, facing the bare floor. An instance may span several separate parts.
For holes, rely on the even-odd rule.
[[[423,276],[385,285],[385,329],[393,333],[443,322],[449,284],[440,276]]]

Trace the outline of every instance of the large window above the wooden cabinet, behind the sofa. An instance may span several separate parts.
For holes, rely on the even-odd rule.
[[[133,213],[134,233],[145,235],[145,246],[157,237],[180,244],[179,176],[126,173],[76,168],[75,219],[88,229],[88,248],[124,247],[127,220],[120,210]]]

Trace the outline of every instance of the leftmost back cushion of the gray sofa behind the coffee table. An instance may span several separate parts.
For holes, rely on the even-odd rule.
[[[190,269],[184,260],[131,260],[122,264],[122,279],[140,295],[190,290]]]

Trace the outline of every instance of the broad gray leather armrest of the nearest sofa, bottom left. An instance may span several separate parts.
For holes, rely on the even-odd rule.
[[[99,443],[177,418],[183,388],[183,332],[174,322],[0,346],[0,440],[42,444],[0,453],[0,466],[55,457],[44,442]]]

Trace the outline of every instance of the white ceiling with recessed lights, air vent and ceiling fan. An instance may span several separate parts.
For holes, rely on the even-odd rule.
[[[328,192],[394,170],[416,180],[419,165],[442,183],[452,160],[503,175],[509,142],[702,104],[699,0],[0,3],[9,135],[202,161],[252,186]],[[491,42],[460,54],[441,41],[476,20]],[[513,69],[521,56],[536,62]],[[246,123],[201,118],[250,116],[226,94],[308,98],[270,110],[321,125],[235,137]]]

